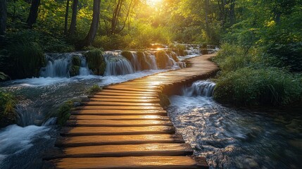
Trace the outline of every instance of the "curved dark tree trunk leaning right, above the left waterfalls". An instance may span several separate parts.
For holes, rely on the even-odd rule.
[[[87,37],[80,42],[80,46],[89,46],[94,42],[94,37],[96,37],[96,31],[99,27],[99,18],[100,18],[100,10],[101,10],[101,0],[94,0],[94,11],[92,15],[92,25],[90,25],[90,30],[88,32]]]

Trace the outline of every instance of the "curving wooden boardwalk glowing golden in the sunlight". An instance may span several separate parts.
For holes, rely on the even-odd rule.
[[[218,67],[211,56],[190,58],[189,68],[104,87],[72,113],[44,168],[208,168],[175,133],[160,98],[213,75]]]

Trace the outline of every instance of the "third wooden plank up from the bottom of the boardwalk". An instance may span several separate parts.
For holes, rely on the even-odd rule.
[[[96,146],[118,144],[184,143],[180,134],[92,135],[58,137],[56,146]]]

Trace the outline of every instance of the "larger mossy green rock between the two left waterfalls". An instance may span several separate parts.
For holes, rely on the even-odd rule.
[[[103,51],[100,49],[94,49],[92,51],[88,51],[85,54],[87,59],[87,64],[90,70],[94,73],[94,75],[103,75],[106,70],[106,61],[103,58]]]

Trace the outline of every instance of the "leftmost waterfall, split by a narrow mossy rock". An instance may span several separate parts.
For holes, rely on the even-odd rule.
[[[89,75],[86,58],[80,53],[46,54],[46,67],[40,70],[41,77],[70,77],[69,70],[73,56],[80,58],[80,75]]]

